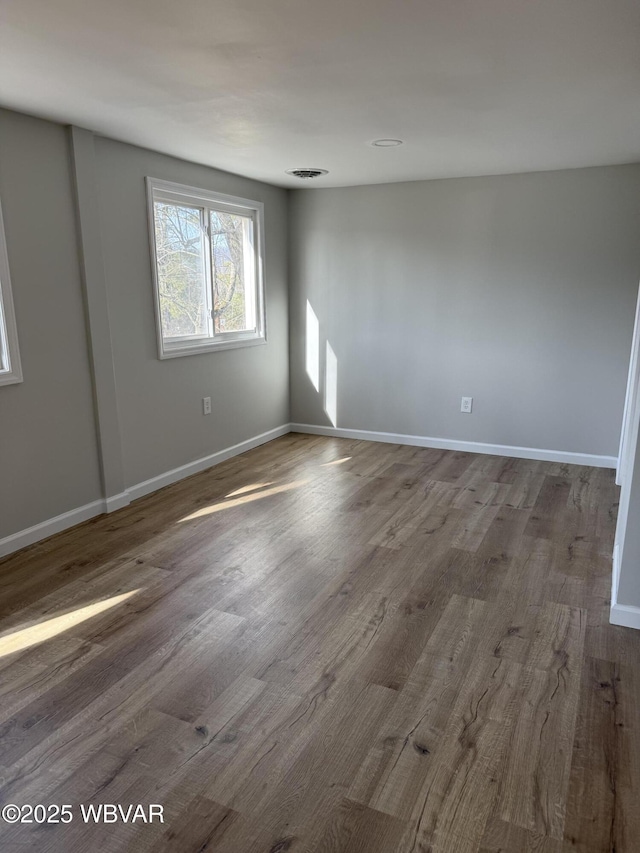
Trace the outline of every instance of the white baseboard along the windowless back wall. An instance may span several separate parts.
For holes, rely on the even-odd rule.
[[[596,456],[590,453],[573,453],[569,450],[540,450],[536,447],[513,447],[510,444],[484,444],[480,441],[430,438],[428,436],[403,435],[394,432],[341,429],[312,424],[291,424],[291,431],[308,433],[310,435],[356,438],[362,441],[382,441],[389,444],[409,444],[415,447],[433,447],[441,450],[463,450],[467,453],[487,453],[491,456],[513,456],[516,459],[537,459],[541,462],[566,462],[570,465],[589,465],[594,468],[615,468],[617,463],[615,456]]]

